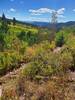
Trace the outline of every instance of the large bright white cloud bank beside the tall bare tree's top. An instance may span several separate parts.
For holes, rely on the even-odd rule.
[[[31,15],[42,15],[42,14],[52,14],[53,12],[56,12],[57,14],[57,18],[65,18],[64,16],[64,11],[65,8],[60,8],[58,10],[55,9],[49,9],[49,8],[40,8],[40,9],[30,9],[29,12]],[[49,18],[42,18],[42,17],[29,17],[28,20],[32,20],[32,21],[42,21],[42,22],[49,22],[50,21],[50,17]]]

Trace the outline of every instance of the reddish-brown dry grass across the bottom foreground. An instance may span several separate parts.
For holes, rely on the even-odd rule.
[[[41,84],[19,77],[4,86],[2,100],[75,100],[75,83],[57,77]],[[72,99],[71,99],[72,98]]]

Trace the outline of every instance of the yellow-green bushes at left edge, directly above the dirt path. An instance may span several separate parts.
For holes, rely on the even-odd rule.
[[[17,52],[0,52],[0,75],[18,67],[21,58]]]

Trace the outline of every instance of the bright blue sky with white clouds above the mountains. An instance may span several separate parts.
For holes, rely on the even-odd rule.
[[[51,22],[52,12],[58,22],[75,21],[75,0],[0,0],[0,16],[11,19]]]

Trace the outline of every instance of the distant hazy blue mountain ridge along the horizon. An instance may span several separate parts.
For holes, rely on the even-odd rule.
[[[13,19],[8,19],[8,21],[12,22]],[[1,17],[0,17],[0,21],[1,21]],[[30,25],[30,26],[34,26],[34,27],[51,27],[52,24],[49,22],[36,22],[36,21],[31,21],[31,22],[26,22],[26,21],[19,21],[16,20],[16,23],[20,23],[23,25]],[[60,29],[62,27],[69,27],[69,26],[75,26],[75,21],[68,21],[68,22],[62,22],[62,23],[57,23],[56,24],[56,28]]]

